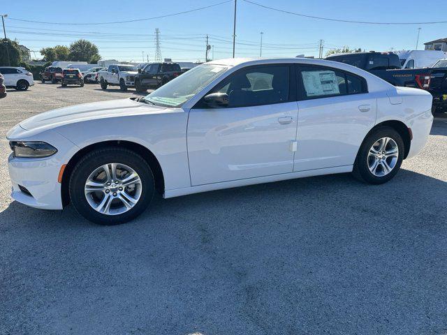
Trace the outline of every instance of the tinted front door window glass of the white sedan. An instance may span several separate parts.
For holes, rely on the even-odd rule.
[[[210,93],[228,94],[228,108],[286,103],[290,90],[289,72],[289,66],[256,66],[239,70]]]

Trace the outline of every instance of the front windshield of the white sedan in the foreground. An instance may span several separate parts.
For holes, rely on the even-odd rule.
[[[145,100],[158,106],[181,107],[227,69],[228,66],[213,64],[196,66],[145,96]]]

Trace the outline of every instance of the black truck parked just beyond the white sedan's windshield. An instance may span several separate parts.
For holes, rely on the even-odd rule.
[[[135,89],[144,92],[147,89],[161,87],[181,74],[182,69],[177,63],[147,64],[144,68],[139,68],[138,75],[135,75]]]

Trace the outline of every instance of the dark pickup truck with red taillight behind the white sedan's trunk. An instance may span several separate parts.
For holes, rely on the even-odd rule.
[[[433,99],[433,112],[440,112],[447,105],[447,68],[402,69],[397,54],[393,52],[356,52],[326,57],[367,70],[394,86],[414,87],[429,91]]]

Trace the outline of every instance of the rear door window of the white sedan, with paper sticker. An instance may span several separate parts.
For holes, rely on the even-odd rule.
[[[367,92],[365,79],[334,68],[301,66],[299,80],[305,99]]]

